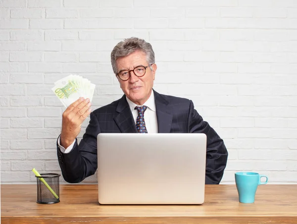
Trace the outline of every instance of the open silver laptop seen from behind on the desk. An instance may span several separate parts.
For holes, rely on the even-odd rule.
[[[100,133],[100,204],[202,204],[206,135]]]

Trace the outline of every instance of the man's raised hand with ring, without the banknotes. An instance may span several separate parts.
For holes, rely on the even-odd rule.
[[[60,144],[65,149],[67,149],[78,136],[83,121],[91,113],[90,107],[90,99],[81,97],[63,112]]]

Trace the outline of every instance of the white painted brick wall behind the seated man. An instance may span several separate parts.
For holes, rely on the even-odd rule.
[[[296,0],[0,0],[2,183],[60,173],[53,82],[90,79],[93,109],[118,99],[110,52],[131,36],[153,46],[155,89],[192,99],[224,139],[222,183],[239,170],[297,183]]]

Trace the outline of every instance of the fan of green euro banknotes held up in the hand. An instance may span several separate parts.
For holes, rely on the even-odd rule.
[[[68,108],[70,104],[80,97],[89,98],[92,102],[95,84],[79,75],[68,75],[54,83],[51,89],[60,99],[62,104]]]

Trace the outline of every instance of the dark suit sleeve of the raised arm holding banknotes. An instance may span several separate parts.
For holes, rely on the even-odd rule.
[[[61,153],[57,144],[57,156],[63,178],[69,183],[78,183],[97,170],[97,135],[100,133],[96,115],[90,114],[90,123],[80,144],[77,140],[71,152]]]

